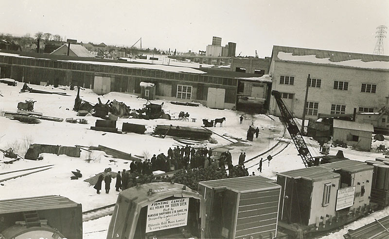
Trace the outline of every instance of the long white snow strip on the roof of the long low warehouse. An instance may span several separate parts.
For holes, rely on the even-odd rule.
[[[156,70],[164,70],[170,72],[186,72],[186,73],[196,73],[196,74],[207,73],[201,70],[188,68],[188,67],[173,67],[173,66],[165,66],[165,65],[131,64],[131,63],[102,62],[102,61],[75,61],[75,60],[69,60],[65,62],[87,63],[87,64],[94,64],[94,65],[106,65],[106,66],[127,67],[127,68],[156,69]]]

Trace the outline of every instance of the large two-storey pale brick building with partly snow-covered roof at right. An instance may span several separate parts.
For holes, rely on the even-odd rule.
[[[274,46],[272,90],[283,93],[293,116],[302,118],[308,74],[306,119],[322,114],[377,112],[389,95],[389,56]],[[280,116],[274,97],[270,113]]]

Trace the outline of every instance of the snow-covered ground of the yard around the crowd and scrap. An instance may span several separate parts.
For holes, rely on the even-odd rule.
[[[10,120],[5,117],[0,117],[0,148],[5,150],[12,147],[16,153],[24,156],[29,143],[42,143],[63,146],[85,145],[98,146],[104,145],[106,147],[114,148],[133,155],[142,155],[146,158],[151,158],[153,154],[165,153],[169,147],[182,145],[174,140],[172,137],[164,139],[153,137],[150,135],[138,135],[133,133],[114,134],[90,130],[90,126],[94,126],[95,121],[99,118],[95,117],[77,117],[76,112],[72,111],[76,90],[70,90],[69,87],[60,86],[53,88],[52,86],[29,85],[34,89],[66,92],[70,96],[56,95],[56,94],[35,94],[35,93],[19,93],[22,83],[18,86],[8,86],[0,84],[0,111],[16,111],[18,102],[25,100],[34,100],[35,112],[41,112],[45,116],[60,117],[60,118],[74,118],[86,119],[88,124],[73,124],[65,120],[62,122],[41,120],[39,124],[25,124],[17,120]],[[88,102],[96,103],[97,98],[100,97],[102,102],[109,100],[117,100],[124,102],[131,108],[141,108],[146,100],[137,98],[136,95],[125,93],[111,92],[104,96],[98,96],[90,89],[81,90],[81,98]],[[154,103],[162,103],[157,100]],[[204,143],[201,146],[211,148],[228,146],[233,157],[233,164],[238,163],[238,155],[241,152],[246,152],[246,160],[257,155],[263,154],[251,161],[248,161],[245,166],[249,173],[255,172],[256,175],[262,175],[272,179],[276,178],[276,172],[289,171],[303,168],[304,165],[297,150],[291,141],[289,134],[285,132],[280,120],[274,116],[267,115],[244,115],[242,112],[232,110],[217,110],[210,109],[200,105],[199,107],[181,106],[164,102],[163,110],[172,116],[172,120],[139,120],[139,119],[119,119],[117,127],[121,130],[123,122],[131,122],[146,125],[146,132],[153,132],[153,128],[157,124],[173,124],[179,126],[201,127],[202,119],[213,120],[215,118],[225,117],[226,121],[223,127],[210,128],[219,135],[226,135],[233,142],[237,142],[236,138],[241,138],[246,146],[231,146],[231,142],[212,135],[217,140],[217,144]],[[177,120],[180,111],[188,112],[190,114],[189,121]],[[239,116],[244,115],[243,124],[239,124]],[[197,119],[192,122],[192,118]],[[254,141],[246,141],[246,132],[248,126],[260,128],[260,135],[258,138],[254,137]],[[233,139],[235,138],[235,139]],[[306,138],[309,150],[313,156],[319,155],[318,143],[312,139]],[[388,141],[385,141],[389,146]],[[373,143],[373,149],[379,145],[380,142]],[[198,145],[200,146],[200,145]],[[374,160],[375,157],[382,157],[382,154],[366,152],[359,152],[355,150],[343,148],[331,148],[330,154],[336,154],[337,150],[343,150],[345,157],[355,160]],[[267,155],[273,155],[270,164],[264,162],[263,171],[259,173],[257,170],[258,163],[261,157],[264,159]],[[88,163],[86,159],[93,159]],[[68,197],[74,202],[81,203],[83,211],[94,209],[100,206],[113,204],[116,202],[118,193],[114,189],[116,179],[112,180],[111,191],[109,194],[96,194],[93,186],[84,182],[85,179],[94,176],[97,173],[104,171],[110,167],[112,171],[122,171],[129,169],[129,162],[122,159],[114,159],[107,156],[103,152],[93,151],[89,155],[88,152],[82,151],[80,158],[69,157],[66,155],[43,154],[43,160],[32,161],[21,159],[13,164],[4,164],[0,158],[0,172],[16,171],[20,169],[53,165],[51,169],[37,172],[28,176],[18,177],[0,183],[0,198],[11,199],[19,197],[32,197],[42,195],[61,195]],[[71,171],[80,170],[83,177],[79,180],[71,180]],[[15,175],[12,174],[12,175]],[[7,178],[7,174],[0,175],[0,180]],[[104,186],[103,186],[104,188]],[[113,190],[112,190],[113,188]],[[196,188],[193,188],[196,189]],[[104,190],[103,190],[104,192]],[[381,218],[389,215],[389,210],[376,212],[369,217],[351,223],[341,231],[331,234],[326,239],[343,238],[343,234],[347,233],[347,229],[355,229],[365,223],[369,223],[374,218]],[[92,220],[83,223],[84,239],[105,239],[106,230],[110,221],[110,216],[105,216],[97,220]]]

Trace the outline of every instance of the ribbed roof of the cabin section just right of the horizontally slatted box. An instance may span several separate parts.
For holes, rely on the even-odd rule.
[[[277,175],[292,177],[292,178],[305,178],[312,181],[321,181],[330,178],[338,178],[340,174],[333,172],[330,169],[322,167],[311,167],[292,171],[286,171],[277,173]]]

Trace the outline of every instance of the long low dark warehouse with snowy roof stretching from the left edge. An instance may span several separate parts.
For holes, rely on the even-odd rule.
[[[140,83],[150,82],[156,85],[156,96],[159,99],[200,102],[208,107],[223,109],[233,109],[236,104],[238,79],[225,76],[235,75],[231,73],[237,72],[223,71],[223,76],[220,77],[212,71],[208,73],[194,68],[95,61],[90,58],[36,53],[22,56],[0,52],[1,78],[12,78],[36,85],[72,83],[91,88],[98,94],[117,91],[139,95]],[[104,83],[96,85],[96,79],[99,84],[102,81]],[[96,89],[95,86],[101,88]],[[107,88],[108,91],[105,91]]]

